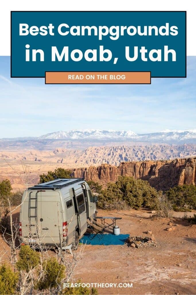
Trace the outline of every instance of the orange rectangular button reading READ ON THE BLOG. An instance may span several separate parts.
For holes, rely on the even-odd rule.
[[[150,72],[46,72],[46,84],[151,84]]]

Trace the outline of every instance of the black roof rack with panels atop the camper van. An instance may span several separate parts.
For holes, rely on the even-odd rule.
[[[68,186],[70,184],[84,181],[84,178],[57,178],[52,181],[44,182],[37,184],[35,186],[29,187],[28,190],[36,189],[36,190],[42,190],[42,189],[61,189],[64,186]]]

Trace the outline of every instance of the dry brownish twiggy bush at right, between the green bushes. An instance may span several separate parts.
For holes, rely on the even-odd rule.
[[[172,217],[173,204],[168,199],[167,195],[160,194],[156,200],[156,212],[160,217]]]

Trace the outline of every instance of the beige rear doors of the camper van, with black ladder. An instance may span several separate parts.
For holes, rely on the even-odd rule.
[[[63,211],[58,191],[28,191],[21,207],[24,241],[59,244],[63,235]]]

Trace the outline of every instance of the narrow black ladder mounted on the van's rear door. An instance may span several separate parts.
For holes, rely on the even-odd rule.
[[[29,193],[29,231],[32,233],[32,227],[34,227],[33,235],[37,235],[37,193],[35,197],[31,197],[32,191]],[[33,205],[33,206],[32,206]]]

